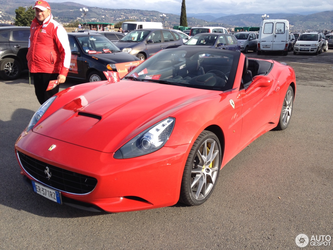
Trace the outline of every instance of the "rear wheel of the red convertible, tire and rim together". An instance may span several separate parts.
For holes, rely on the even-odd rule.
[[[280,120],[276,126],[278,130],[284,130],[288,127],[290,123],[293,105],[294,105],[294,90],[291,86],[289,86],[287,89],[287,93],[283,99],[283,104],[280,113]]]

